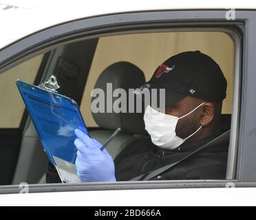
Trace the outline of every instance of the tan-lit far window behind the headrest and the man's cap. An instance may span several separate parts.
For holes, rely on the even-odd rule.
[[[81,112],[86,118],[87,126],[98,126],[92,117],[88,100],[96,80],[109,65],[120,61],[133,63],[142,69],[147,81],[156,67],[169,56],[189,50],[200,50],[220,65],[228,81],[222,113],[230,114],[233,104],[234,43],[227,34],[223,32],[125,34],[101,37],[98,41],[81,102]]]

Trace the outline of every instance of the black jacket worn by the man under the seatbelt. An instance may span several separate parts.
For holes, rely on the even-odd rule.
[[[129,144],[114,160],[116,179],[127,181],[138,175],[167,166],[190,155],[204,144],[230,129],[230,118],[222,117],[222,125],[211,137],[198,142],[184,142],[174,150],[155,146],[150,138]],[[229,140],[202,151],[180,162],[153,179],[225,179]]]

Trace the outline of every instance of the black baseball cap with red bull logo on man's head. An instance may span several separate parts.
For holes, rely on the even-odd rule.
[[[164,61],[154,72],[151,80],[136,94],[146,89],[165,89],[165,106],[186,96],[208,102],[220,102],[226,98],[226,78],[215,61],[200,51],[182,52]]]

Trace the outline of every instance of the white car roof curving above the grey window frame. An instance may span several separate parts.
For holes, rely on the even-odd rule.
[[[253,1],[100,1],[8,0],[0,1],[0,49],[39,30],[86,17],[120,12],[200,8],[256,8]],[[8,7],[9,9],[3,10]],[[56,14],[57,12],[57,14]],[[58,16],[56,16],[58,15]],[[3,22],[4,21],[4,22]]]

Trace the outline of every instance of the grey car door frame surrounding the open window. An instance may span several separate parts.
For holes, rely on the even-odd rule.
[[[254,147],[255,135],[255,99],[253,96],[253,82],[255,81],[255,11],[237,11],[236,20],[226,20],[226,10],[191,10],[191,11],[153,11],[153,12],[133,12],[129,14],[111,14],[107,16],[72,21],[69,25],[56,25],[55,27],[42,30],[18,41],[12,45],[12,50],[6,47],[5,54],[1,56],[0,68],[8,68],[22,58],[32,56],[39,52],[49,50],[52,45],[66,43],[74,40],[74,36],[86,38],[86,36],[99,36],[100,34],[113,35],[113,32],[156,32],[166,30],[225,30],[231,34],[237,47],[235,47],[235,88],[233,100],[233,115],[231,126],[231,144],[228,155],[227,178],[220,181],[167,181],[158,182],[147,181],[143,183],[119,182],[114,184],[81,184],[77,188],[68,186],[52,186],[54,190],[92,190],[92,189],[127,189],[132,188],[176,188],[176,187],[225,187],[230,182],[236,186],[242,186],[246,181],[255,183],[255,158],[256,150]],[[52,33],[56,33],[52,37]],[[44,37],[42,37],[44,36]],[[237,36],[237,37],[235,37]],[[89,39],[89,38],[88,38]],[[250,43],[250,46],[248,46]],[[24,47],[23,47],[24,46]],[[22,49],[21,49],[22,48]],[[30,50],[28,50],[30,48]],[[7,52],[10,52],[7,54]],[[59,61],[67,64],[65,60]],[[76,68],[72,68],[76,69]],[[72,96],[73,91],[70,92]],[[31,186],[31,192],[47,191],[50,186]],[[16,191],[15,191],[16,190]],[[14,191],[17,192],[17,189]]]

